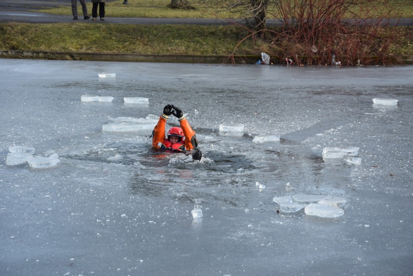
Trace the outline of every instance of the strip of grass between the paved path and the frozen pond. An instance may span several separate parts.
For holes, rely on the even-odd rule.
[[[2,23],[1,50],[227,55],[245,31],[235,26]],[[252,42],[238,54],[256,54]]]

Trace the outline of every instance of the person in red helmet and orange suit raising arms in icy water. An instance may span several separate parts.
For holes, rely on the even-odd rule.
[[[181,127],[172,127],[165,137],[165,124],[171,114],[178,118]],[[202,152],[196,150],[198,140],[195,131],[192,130],[182,110],[172,104],[168,104],[163,108],[152,135],[152,146],[155,149],[191,154],[194,160],[201,160],[202,158]]]

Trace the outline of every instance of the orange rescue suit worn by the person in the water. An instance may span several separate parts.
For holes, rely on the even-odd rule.
[[[181,141],[173,144],[167,139],[167,137],[165,137],[165,124],[168,117],[165,118],[163,115],[159,116],[158,124],[155,126],[153,131],[152,146],[155,149],[165,150],[191,150],[196,148],[198,146],[198,140],[196,139],[195,131],[192,130],[186,117],[179,121],[185,136],[182,137]]]

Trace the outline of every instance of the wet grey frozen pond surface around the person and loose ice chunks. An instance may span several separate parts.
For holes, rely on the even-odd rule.
[[[1,59],[0,275],[410,275],[411,72]],[[201,162],[151,151],[148,129],[102,131],[167,103]],[[231,124],[241,135],[220,131]],[[10,146],[60,162],[6,165]],[[284,196],[344,214],[284,212]]]

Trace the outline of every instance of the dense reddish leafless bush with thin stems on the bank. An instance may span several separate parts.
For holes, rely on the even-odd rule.
[[[390,63],[392,47],[403,33],[389,26],[396,13],[388,2],[280,0],[283,28],[273,32],[271,43],[279,47],[276,55],[291,57],[296,64]]]

